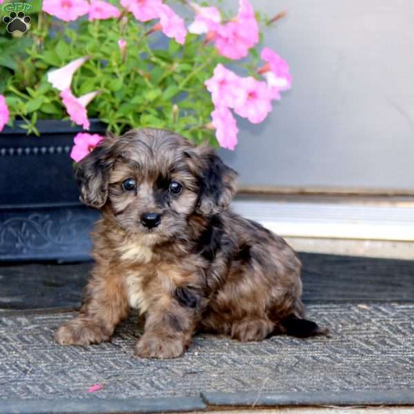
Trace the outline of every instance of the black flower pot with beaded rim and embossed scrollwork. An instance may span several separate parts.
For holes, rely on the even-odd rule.
[[[40,137],[26,130],[0,133],[0,261],[90,259],[89,233],[98,217],[79,202],[70,150],[81,132],[69,121],[39,121]],[[91,134],[103,134],[99,121]]]

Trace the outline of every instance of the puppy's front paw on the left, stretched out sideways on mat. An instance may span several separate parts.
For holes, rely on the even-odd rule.
[[[100,344],[109,339],[102,326],[82,319],[73,319],[55,331],[55,341],[61,345]]]

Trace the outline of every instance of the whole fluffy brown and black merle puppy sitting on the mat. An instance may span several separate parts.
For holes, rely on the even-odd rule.
[[[236,172],[164,130],[106,137],[77,166],[101,208],[95,267],[59,344],[108,341],[130,307],[146,317],[137,357],[178,357],[196,330],[239,341],[323,333],[302,319],[301,264],[284,239],[229,209]]]

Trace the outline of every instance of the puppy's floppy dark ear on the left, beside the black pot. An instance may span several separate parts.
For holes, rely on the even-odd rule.
[[[81,192],[79,198],[87,206],[101,208],[108,199],[108,172],[113,164],[110,148],[114,139],[113,135],[107,135],[76,166],[75,178]]]

